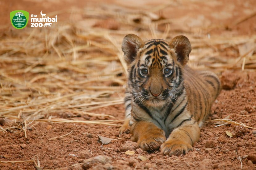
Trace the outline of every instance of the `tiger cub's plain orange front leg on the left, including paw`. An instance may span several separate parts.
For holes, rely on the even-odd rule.
[[[144,151],[158,149],[166,140],[165,132],[148,121],[137,121],[131,127],[131,140],[137,142]]]

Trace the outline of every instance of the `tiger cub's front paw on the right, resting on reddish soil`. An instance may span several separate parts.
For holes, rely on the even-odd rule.
[[[164,155],[185,155],[189,151],[192,151],[193,147],[191,144],[183,142],[181,140],[166,140],[162,145],[161,145],[161,152]]]

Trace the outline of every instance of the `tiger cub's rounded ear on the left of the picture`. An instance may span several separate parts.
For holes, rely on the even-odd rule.
[[[127,64],[130,64],[136,58],[138,49],[143,47],[143,45],[144,42],[137,35],[128,34],[124,37],[122,50]]]

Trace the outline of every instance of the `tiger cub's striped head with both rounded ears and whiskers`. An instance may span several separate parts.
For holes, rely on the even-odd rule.
[[[188,62],[191,44],[177,36],[170,42],[153,39],[144,42],[134,34],[124,37],[124,59],[128,65],[128,85],[136,103],[163,106],[182,92],[183,66]]]

